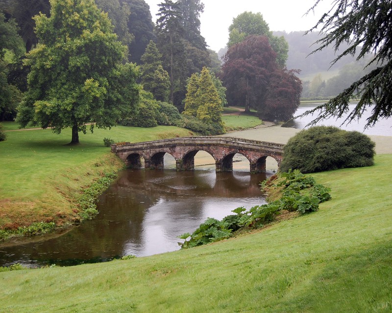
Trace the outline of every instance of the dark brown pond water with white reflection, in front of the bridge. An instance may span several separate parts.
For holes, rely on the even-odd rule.
[[[0,266],[63,266],[173,251],[179,248],[176,237],[207,217],[221,219],[238,206],[263,203],[258,184],[265,178],[239,171],[123,171],[99,198],[95,220],[56,238],[0,246]]]

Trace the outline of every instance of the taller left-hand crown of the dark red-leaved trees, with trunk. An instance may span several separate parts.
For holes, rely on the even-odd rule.
[[[266,36],[248,36],[231,46],[224,56],[221,79],[227,88],[229,103],[262,108],[270,81],[277,69],[276,53]]]

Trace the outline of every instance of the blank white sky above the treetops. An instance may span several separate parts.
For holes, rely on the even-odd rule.
[[[163,0],[145,0],[150,6],[152,21],[156,22],[157,4]],[[322,14],[332,8],[333,0],[322,0],[315,13],[305,13],[315,0],[202,0],[204,13],[200,16],[200,32],[207,45],[215,51],[228,41],[228,28],[233,18],[245,11],[261,13],[270,25],[270,30],[286,32],[308,30],[316,24]]]

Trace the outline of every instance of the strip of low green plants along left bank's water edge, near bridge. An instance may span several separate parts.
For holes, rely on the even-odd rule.
[[[91,220],[98,214],[96,204],[97,198],[116,178],[116,174],[106,173],[103,177],[94,182],[89,188],[83,191],[83,194],[78,200],[78,214],[81,221]]]

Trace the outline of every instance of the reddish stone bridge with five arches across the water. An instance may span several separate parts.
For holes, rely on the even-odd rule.
[[[282,160],[283,144],[248,140],[232,137],[182,137],[139,143],[118,143],[111,145],[112,152],[119,156],[129,168],[142,168],[141,158],[146,169],[164,167],[163,156],[168,153],[175,159],[176,169],[193,170],[195,155],[206,151],[215,159],[217,172],[233,170],[233,156],[245,156],[250,163],[251,173],[266,171],[266,158],[273,157],[278,166]]]

